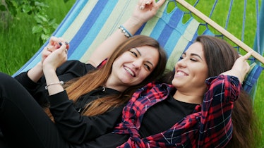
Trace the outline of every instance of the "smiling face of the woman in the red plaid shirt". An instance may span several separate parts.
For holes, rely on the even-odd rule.
[[[172,85],[177,90],[183,89],[191,92],[203,90],[204,92],[206,78],[208,78],[208,66],[205,61],[203,45],[200,42],[195,42],[176,63]]]

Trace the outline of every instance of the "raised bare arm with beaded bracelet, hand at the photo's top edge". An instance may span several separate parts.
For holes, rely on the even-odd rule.
[[[155,0],[140,0],[136,5],[132,15],[124,24],[122,24],[118,30],[110,35],[97,49],[92,53],[88,63],[92,66],[97,67],[105,58],[108,58],[122,42],[126,41],[128,37],[125,36],[126,32],[128,35],[134,35],[136,31],[155,16],[157,10],[164,4],[165,0],[156,2]],[[124,32],[121,32],[124,30]]]

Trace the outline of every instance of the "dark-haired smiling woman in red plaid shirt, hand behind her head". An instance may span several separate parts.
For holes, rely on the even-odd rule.
[[[199,36],[174,71],[133,94],[114,132],[88,147],[252,147],[255,117],[241,89],[249,56]]]

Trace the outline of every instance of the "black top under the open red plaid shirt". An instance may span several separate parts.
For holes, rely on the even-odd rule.
[[[139,129],[141,137],[148,137],[168,130],[179,120],[193,113],[196,105],[178,101],[169,95],[167,99],[155,104],[145,112]]]

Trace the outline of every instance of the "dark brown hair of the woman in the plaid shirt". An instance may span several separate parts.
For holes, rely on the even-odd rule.
[[[201,35],[196,42],[203,44],[205,60],[208,65],[208,76],[220,75],[224,71],[230,70],[239,58],[239,54],[224,39]],[[162,77],[164,82],[172,82],[174,71]],[[233,135],[227,147],[252,147],[254,144],[253,134],[256,130],[256,116],[250,96],[241,90],[239,98],[234,102],[232,111]]]

